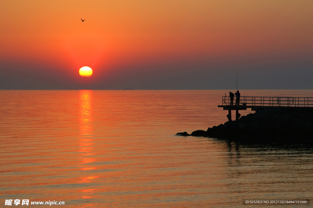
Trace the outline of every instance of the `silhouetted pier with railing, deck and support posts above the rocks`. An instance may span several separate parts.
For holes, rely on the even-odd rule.
[[[240,118],[239,110],[259,111],[268,108],[308,108],[313,107],[313,97],[240,97],[239,105],[235,105],[236,97],[231,105],[229,96],[222,97],[222,105],[218,105],[223,110],[228,110],[227,118],[232,121],[232,110],[236,110],[236,120]]]

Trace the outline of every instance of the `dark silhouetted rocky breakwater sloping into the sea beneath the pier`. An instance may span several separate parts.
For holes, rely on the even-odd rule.
[[[176,135],[189,136],[187,132]],[[313,108],[265,108],[190,136],[243,143],[313,144]]]

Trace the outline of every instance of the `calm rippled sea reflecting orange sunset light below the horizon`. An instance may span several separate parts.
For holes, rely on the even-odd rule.
[[[5,199],[80,208],[311,199],[310,147],[175,136],[226,122],[228,112],[217,105],[228,91],[0,90],[0,206],[7,207]],[[241,95],[313,97],[313,91]]]

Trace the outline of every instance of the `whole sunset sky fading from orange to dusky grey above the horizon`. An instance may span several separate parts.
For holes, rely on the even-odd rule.
[[[313,1],[5,1],[0,89],[313,89]],[[82,22],[80,18],[86,19]],[[89,66],[91,77],[79,69]]]

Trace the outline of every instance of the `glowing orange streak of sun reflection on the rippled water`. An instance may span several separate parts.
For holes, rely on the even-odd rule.
[[[93,140],[93,131],[92,131],[92,90],[80,90],[79,91],[79,156],[80,163],[79,168],[81,171],[90,171],[95,170],[96,167],[92,167],[91,163],[95,162],[96,159],[93,157],[88,157],[95,155],[92,152],[94,149],[94,140]],[[90,173],[86,177],[80,177],[79,183],[90,183],[98,176],[92,176]],[[85,189],[81,191],[82,196],[79,196],[80,199],[91,199],[93,198],[95,189]],[[84,205],[84,207],[95,207],[94,204]]]

